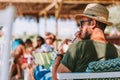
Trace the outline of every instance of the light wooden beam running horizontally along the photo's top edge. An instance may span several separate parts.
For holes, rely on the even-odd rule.
[[[0,0],[0,2],[12,3],[52,3],[53,0]],[[120,3],[120,0],[64,0],[66,4],[88,4],[88,3]]]

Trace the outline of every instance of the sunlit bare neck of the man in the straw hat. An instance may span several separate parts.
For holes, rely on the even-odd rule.
[[[91,35],[91,40],[107,43],[104,32],[100,30],[99,28],[95,28],[95,30],[93,31]]]

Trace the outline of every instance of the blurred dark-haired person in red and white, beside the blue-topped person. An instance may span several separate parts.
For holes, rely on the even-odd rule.
[[[32,55],[34,51],[33,42],[31,39],[27,38],[25,40],[25,53],[22,59],[22,68],[24,69],[24,80],[34,80],[33,73],[29,65],[34,61]]]

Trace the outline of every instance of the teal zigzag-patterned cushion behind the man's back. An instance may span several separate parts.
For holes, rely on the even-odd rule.
[[[120,58],[106,61],[93,61],[89,63],[86,72],[111,72],[120,71]]]

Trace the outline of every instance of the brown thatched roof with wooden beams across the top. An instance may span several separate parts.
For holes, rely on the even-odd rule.
[[[57,1],[57,2],[55,2]],[[0,0],[0,9],[9,4],[17,8],[19,16],[32,15],[47,16],[60,12],[60,18],[70,18],[76,13],[81,13],[88,3],[101,3],[105,6],[120,4],[119,0]]]

